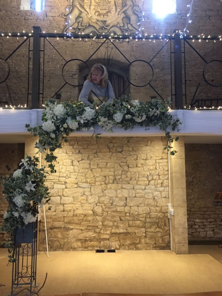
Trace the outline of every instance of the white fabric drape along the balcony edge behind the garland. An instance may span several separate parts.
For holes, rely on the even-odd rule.
[[[0,134],[22,133],[28,134],[25,124],[29,123],[31,127],[41,124],[41,109],[33,110],[0,110]],[[181,135],[222,135],[222,111],[219,110],[171,110],[171,114],[179,118],[183,123],[180,131],[174,131],[172,134]],[[123,128],[113,127],[113,133],[102,131],[99,126],[95,126],[95,131],[102,133],[101,136],[162,136],[163,131],[158,127],[151,127],[145,130],[143,127],[135,126],[132,131],[124,131]],[[91,136],[92,131],[78,131],[72,133],[72,136]]]

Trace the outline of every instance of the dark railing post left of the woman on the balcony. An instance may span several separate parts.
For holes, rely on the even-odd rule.
[[[32,109],[39,108],[40,92],[40,49],[41,49],[41,28],[33,27],[33,58],[32,58]]]

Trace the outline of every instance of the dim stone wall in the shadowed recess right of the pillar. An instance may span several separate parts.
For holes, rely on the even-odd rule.
[[[189,240],[222,239],[222,144],[185,144]]]

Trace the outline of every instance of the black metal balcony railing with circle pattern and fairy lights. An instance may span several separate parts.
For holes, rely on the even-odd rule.
[[[186,35],[183,36],[180,33],[173,33],[172,35],[166,35],[166,34],[154,34],[154,35],[147,35],[145,34],[144,36],[141,36],[139,34],[105,34],[105,33],[91,33],[91,34],[83,34],[83,33],[45,33],[45,32],[41,32],[41,28],[40,27],[33,27],[33,31],[30,32],[0,32],[0,36],[2,37],[24,37],[25,40],[11,53],[9,54],[9,56],[6,59],[2,59],[4,60],[4,62],[7,63],[7,60],[9,59],[9,57],[11,57],[16,51],[17,49],[19,49],[26,41],[29,42],[28,45],[28,92],[27,92],[27,106],[28,106],[28,100],[29,100],[29,95],[31,95],[31,109],[36,109],[39,108],[42,104],[40,103],[40,96],[42,96],[42,102],[43,102],[43,98],[44,98],[44,67],[45,67],[45,42],[48,41],[48,44],[50,44],[54,50],[56,50],[56,52],[65,60],[65,65],[68,62],[71,62],[73,60],[76,61],[80,61],[83,64],[85,64],[87,67],[87,62],[93,57],[93,55],[99,50],[99,48],[105,44],[105,42],[109,43],[111,42],[112,45],[120,52],[120,54],[126,59],[127,63],[129,64],[128,67],[133,63],[133,62],[145,62],[146,64],[149,65],[149,67],[151,68],[152,73],[154,73],[153,67],[150,64],[152,62],[152,60],[157,56],[157,54],[159,54],[161,52],[161,50],[167,45],[170,44],[170,82],[171,82],[171,99],[173,101],[173,107],[175,107],[176,109],[183,109],[184,108],[184,98],[185,98],[185,104],[187,106],[187,78],[186,78],[186,47],[191,48],[199,57],[200,59],[202,59],[202,61],[205,62],[206,65],[208,65],[211,62],[221,62],[220,60],[212,60],[212,61],[206,61],[206,59],[204,57],[202,57],[202,55],[189,43],[190,40],[195,41],[195,40],[206,40],[206,41],[221,41],[221,36],[220,35],[197,35],[197,36],[191,36],[191,35]],[[32,49],[30,49],[30,38],[33,38],[33,46]],[[41,49],[41,39],[43,38],[43,49]],[[99,45],[99,47],[96,49],[96,51],[91,54],[91,56],[86,60],[83,61],[81,59],[71,59],[71,60],[66,60],[62,54],[60,54],[58,52],[58,50],[53,46],[52,43],[50,43],[50,41],[48,40],[48,38],[67,38],[67,39],[79,39],[79,40],[90,40],[90,39],[98,39],[103,41],[101,43],[101,45]],[[123,52],[120,51],[120,49],[112,42],[113,39],[117,39],[117,40],[126,40],[129,41],[130,39],[132,40],[160,40],[160,41],[169,41],[166,42],[161,49],[152,57],[152,59],[150,59],[150,61],[145,61],[145,60],[134,60],[134,61],[130,61],[129,59],[127,59],[127,57],[123,54]],[[32,52],[32,67],[30,66],[30,52]],[[41,58],[41,52],[43,52],[43,58]],[[65,66],[64,65],[64,66]],[[41,91],[40,91],[40,79],[41,79],[41,66],[43,68],[43,81],[42,81],[42,86],[41,86]],[[63,68],[64,68],[63,66]],[[9,66],[8,66],[9,67]],[[205,68],[204,68],[205,69]],[[212,86],[212,87],[221,87],[221,85],[213,85],[211,81],[213,80],[207,80],[205,78],[204,75],[204,69],[203,69],[203,78],[205,81],[205,84],[207,86]],[[30,75],[30,71],[31,74]],[[63,71],[63,70],[62,70]],[[9,69],[10,72],[10,69]],[[3,80],[0,81],[0,84],[5,82],[9,76],[9,72],[7,77]],[[31,92],[29,91],[29,80],[30,80],[30,76],[32,76],[32,90]],[[80,85],[73,85],[68,83],[62,73],[62,77],[65,81],[65,83],[63,84],[63,86],[61,88],[59,88],[59,90],[54,93],[54,95],[52,95],[52,97],[56,96],[59,91],[66,85],[69,84],[71,86],[80,86]],[[153,75],[152,78],[150,79],[150,81],[147,84],[144,84],[142,86],[139,85],[135,85],[133,83],[131,83],[131,81],[129,80],[129,78],[127,77],[126,74],[126,79],[129,82],[129,85],[133,85],[136,87],[144,87],[149,85],[151,89],[153,89],[153,91],[156,92],[156,94],[164,100],[164,98],[161,96],[161,94],[155,89],[155,87],[151,84],[152,79],[153,79]],[[128,86],[129,86],[128,85]],[[127,86],[127,87],[128,87]],[[9,86],[7,86],[9,87]],[[199,94],[197,94],[199,95]],[[192,98],[192,106],[194,106],[195,103],[198,103],[199,98],[197,99],[196,96],[196,92]],[[216,102],[219,104],[220,99],[215,99],[217,100]],[[29,104],[30,105],[30,104]],[[200,103],[199,103],[200,105]],[[216,107],[216,106],[215,106]]]

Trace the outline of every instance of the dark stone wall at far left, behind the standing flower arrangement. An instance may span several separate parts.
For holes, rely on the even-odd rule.
[[[0,176],[12,173],[17,169],[17,164],[24,157],[24,144],[0,144]],[[11,169],[7,170],[6,165]],[[0,225],[3,221],[3,215],[7,210],[7,201],[3,198],[2,186],[0,184]],[[6,234],[0,233],[0,244],[7,240]]]

